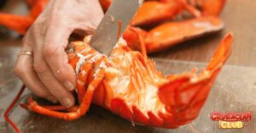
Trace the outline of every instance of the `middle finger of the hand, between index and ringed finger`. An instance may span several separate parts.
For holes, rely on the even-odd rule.
[[[33,50],[34,56],[27,56],[26,58],[24,58],[25,56],[23,57],[23,55],[20,56],[16,65],[17,69],[15,69],[15,72],[20,75],[21,80],[24,81],[26,86],[28,86],[39,97],[45,97],[52,102],[59,101],[63,106],[69,108],[74,104],[73,95],[70,91],[67,91],[67,89],[61,85],[61,82],[59,80],[55,78],[55,75],[52,73],[52,70],[49,68],[49,65],[44,59],[44,37],[42,37],[43,34],[41,34],[42,28],[40,28],[39,25],[33,27],[31,30],[29,30],[23,40],[23,46],[26,47],[23,49],[28,49],[27,46],[32,46],[33,49],[31,49]],[[29,65],[27,65],[28,63],[24,64],[23,62],[28,61],[28,58],[30,58]],[[24,61],[20,62],[20,60]],[[24,66],[29,67],[26,68]],[[26,74],[26,71],[32,71],[30,73],[32,73],[33,75]],[[60,71],[64,70],[61,69]],[[37,81],[35,81],[35,79]]]

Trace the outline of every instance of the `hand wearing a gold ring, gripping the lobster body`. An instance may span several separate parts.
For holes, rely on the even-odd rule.
[[[65,48],[73,30],[92,33],[103,17],[98,0],[50,0],[23,38],[15,74],[39,97],[72,107],[76,75]]]

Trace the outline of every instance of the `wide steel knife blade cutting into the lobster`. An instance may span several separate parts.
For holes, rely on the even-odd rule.
[[[98,52],[108,55],[118,41],[119,21],[122,35],[142,3],[143,0],[113,0],[91,37],[90,45]]]

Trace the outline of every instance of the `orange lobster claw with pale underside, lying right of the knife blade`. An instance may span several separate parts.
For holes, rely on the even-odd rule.
[[[131,49],[140,50],[140,41],[137,34],[141,34],[147,52],[156,53],[180,42],[217,32],[223,28],[224,24],[218,17],[200,17],[181,22],[167,22],[149,31],[132,30],[138,28],[130,27],[125,30],[123,37]]]

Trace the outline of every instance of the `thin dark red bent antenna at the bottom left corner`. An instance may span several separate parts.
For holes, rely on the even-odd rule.
[[[20,88],[20,91],[18,92],[18,94],[16,95],[14,101],[9,105],[9,107],[6,109],[6,111],[3,114],[4,119],[13,126],[13,128],[15,129],[15,131],[17,133],[20,133],[19,128],[17,127],[17,125],[15,125],[15,123],[9,119],[9,112],[15,107],[15,104],[17,103],[17,101],[20,99],[21,94],[23,93],[23,91],[25,90],[26,86],[22,85]]]

